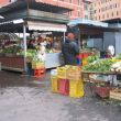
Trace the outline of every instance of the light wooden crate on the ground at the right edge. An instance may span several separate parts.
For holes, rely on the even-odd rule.
[[[110,90],[110,98],[116,100],[121,100],[121,89]]]

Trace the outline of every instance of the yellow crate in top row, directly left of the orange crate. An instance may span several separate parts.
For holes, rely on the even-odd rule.
[[[67,67],[57,67],[57,76],[58,78],[67,78]]]

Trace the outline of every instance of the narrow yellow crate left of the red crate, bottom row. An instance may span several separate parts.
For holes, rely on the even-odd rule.
[[[52,81],[52,92],[58,92],[58,78],[57,78],[57,76],[52,76],[51,81]]]

